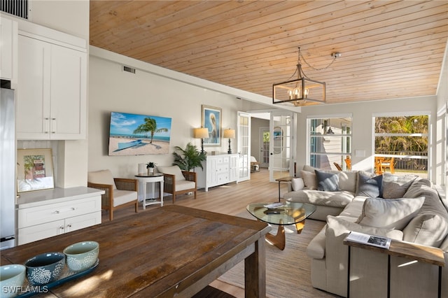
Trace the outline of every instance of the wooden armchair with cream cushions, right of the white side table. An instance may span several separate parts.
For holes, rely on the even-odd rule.
[[[158,166],[158,171],[163,173],[163,190],[173,196],[173,204],[176,201],[176,195],[186,194],[188,192],[197,192],[196,173],[190,171],[181,171],[179,166]]]

